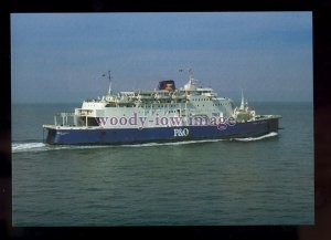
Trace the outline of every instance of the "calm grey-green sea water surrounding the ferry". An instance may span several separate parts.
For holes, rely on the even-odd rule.
[[[13,226],[311,225],[311,103],[255,103],[278,135],[232,140],[66,146],[42,124],[78,105],[12,105]]]

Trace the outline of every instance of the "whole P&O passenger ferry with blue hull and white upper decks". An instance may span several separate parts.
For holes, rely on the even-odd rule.
[[[173,80],[153,91],[114,93],[86,100],[73,113],[54,116],[46,143],[55,145],[115,145],[217,138],[258,137],[278,132],[279,115],[257,115],[242,93],[241,106],[217,96],[210,87],[189,82],[180,88]]]

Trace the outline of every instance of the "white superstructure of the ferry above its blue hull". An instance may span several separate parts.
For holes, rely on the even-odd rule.
[[[192,121],[209,124],[214,118],[235,117],[246,109],[244,106],[235,108],[232,100],[217,96],[210,87],[197,86],[192,72],[189,73],[189,82],[180,88],[175,88],[173,81],[161,81],[158,90],[116,94],[110,82],[107,95],[84,101],[74,114],[62,114],[60,121],[55,117],[55,125],[104,128],[186,126],[194,125]],[[68,121],[71,116],[72,122]],[[254,117],[255,113],[250,118]]]

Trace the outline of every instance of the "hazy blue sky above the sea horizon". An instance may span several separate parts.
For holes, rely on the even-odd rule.
[[[12,13],[12,103],[81,103],[161,80],[312,102],[311,12]]]

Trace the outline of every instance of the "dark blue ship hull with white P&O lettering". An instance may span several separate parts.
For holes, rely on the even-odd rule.
[[[234,126],[178,126],[154,128],[62,128],[45,127],[47,144],[55,145],[120,145],[195,139],[256,137],[278,132],[278,117]]]

